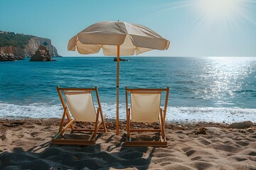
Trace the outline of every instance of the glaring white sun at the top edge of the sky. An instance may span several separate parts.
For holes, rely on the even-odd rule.
[[[197,8],[207,18],[232,18],[240,11],[242,0],[197,0]]]

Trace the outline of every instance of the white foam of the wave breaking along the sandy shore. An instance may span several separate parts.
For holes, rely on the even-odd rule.
[[[97,107],[97,105],[95,106]],[[102,111],[106,118],[116,118],[116,104],[102,103]],[[171,107],[167,108],[166,120],[171,122],[214,122],[234,123],[251,120],[256,123],[256,109],[254,108],[197,108],[197,107]],[[46,103],[33,103],[27,106],[0,103],[0,118],[61,118],[63,107],[61,105],[48,105]],[[119,119],[126,119],[125,103],[119,103]]]

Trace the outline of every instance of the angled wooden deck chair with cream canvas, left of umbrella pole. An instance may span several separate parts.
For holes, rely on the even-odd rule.
[[[63,117],[60,122],[58,134],[51,140],[52,144],[58,145],[93,145],[97,132],[106,132],[106,126],[102,108],[100,105],[100,97],[97,87],[92,89],[77,89],[77,88],[60,88],[57,87],[60,101],[64,108]],[[98,108],[95,111],[95,106],[92,100],[92,91],[95,91],[97,96]],[[72,115],[72,116],[71,116]],[[65,124],[65,118],[68,123]],[[95,123],[94,129],[75,128],[75,121]],[[63,127],[64,126],[64,127]],[[100,129],[100,126],[102,128]],[[89,140],[62,139],[63,133],[71,128],[72,132],[92,132]]]

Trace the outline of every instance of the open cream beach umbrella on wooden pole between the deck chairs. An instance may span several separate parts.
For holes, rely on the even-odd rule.
[[[119,134],[119,56],[139,55],[149,50],[167,50],[169,40],[145,26],[122,21],[94,23],[71,38],[68,50],[80,54],[95,54],[102,49],[104,55],[117,56],[117,135]]]

